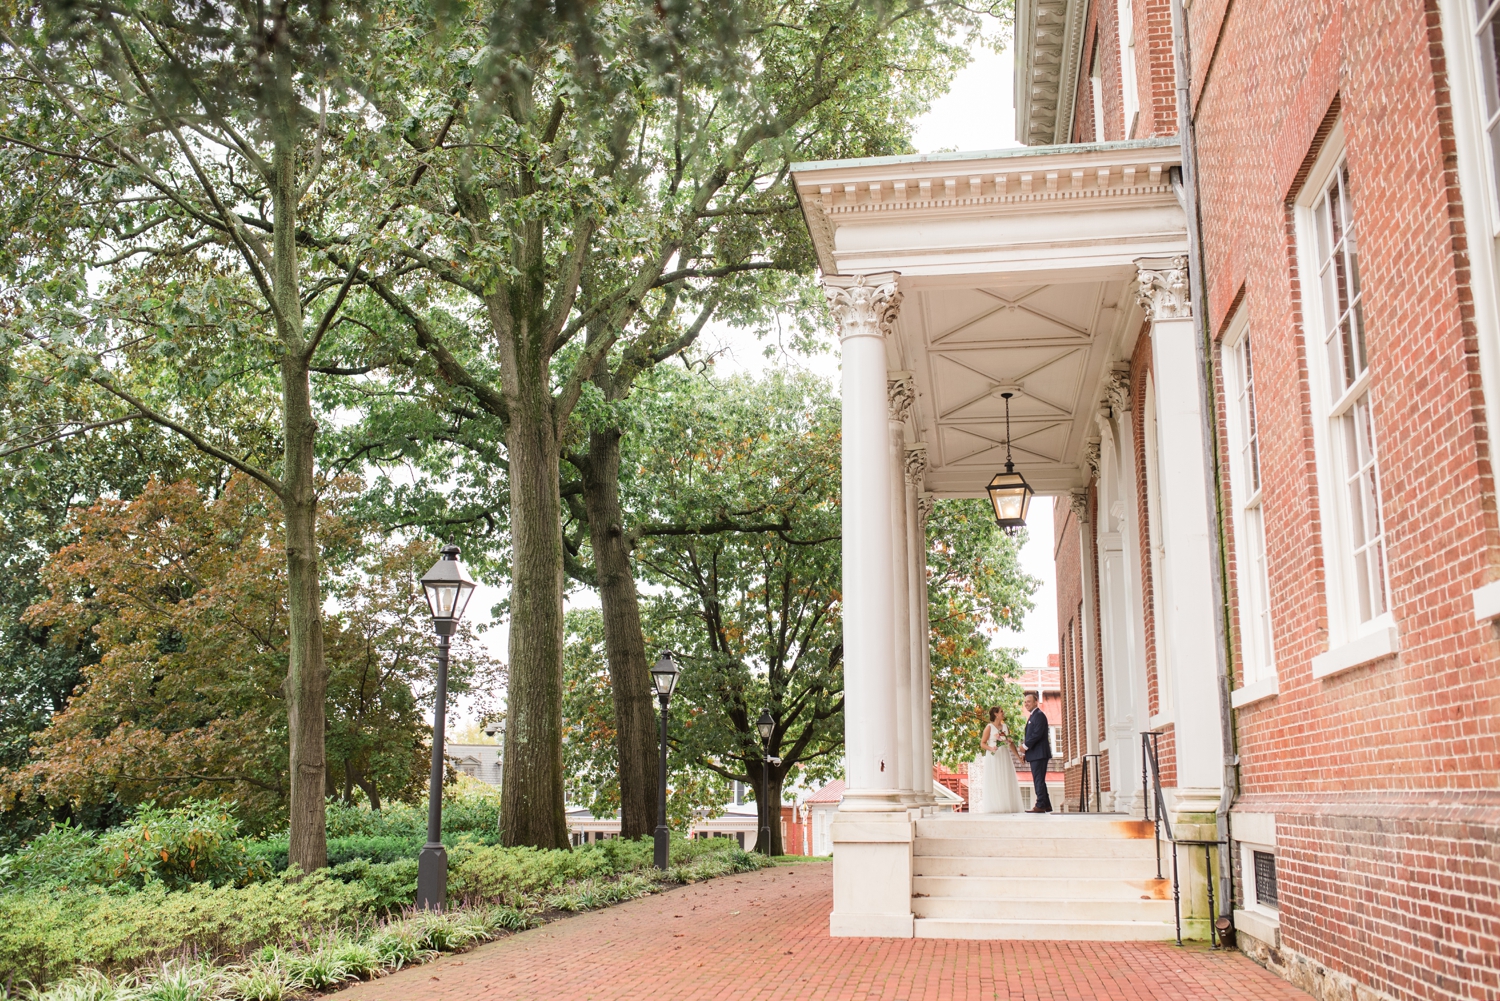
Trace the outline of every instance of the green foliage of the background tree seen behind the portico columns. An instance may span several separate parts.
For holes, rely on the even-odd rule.
[[[760,798],[754,722],[776,720],[770,798],[838,774],[843,756],[840,414],[819,380],[657,371],[628,405],[621,471],[651,648],[684,665],[672,699],[670,809],[714,809],[728,782]],[[1014,654],[1038,581],[982,501],[938,501],[927,524],[933,743],[972,758],[988,705],[1018,713]],[[576,801],[609,809],[614,714],[598,612],[566,620],[564,753]],[[1018,717],[1017,717],[1018,719]],[[774,836],[774,830],[772,830]]]

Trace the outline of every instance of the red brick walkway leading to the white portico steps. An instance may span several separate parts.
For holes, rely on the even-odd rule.
[[[1172,944],[830,938],[832,866],[580,914],[339,992],[339,1001],[1306,1001],[1239,953]]]

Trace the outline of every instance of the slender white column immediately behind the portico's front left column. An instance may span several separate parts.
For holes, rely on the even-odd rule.
[[[906,539],[906,416],[916,399],[910,372],[885,377],[886,432],[891,456],[891,656],[896,675],[896,788],[908,806],[916,803],[912,729],[910,558]]]

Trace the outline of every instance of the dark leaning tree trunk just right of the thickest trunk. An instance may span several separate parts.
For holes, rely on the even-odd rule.
[[[630,569],[630,549],[620,512],[620,431],[588,437],[584,468],[594,573],[604,620],[609,687],[615,699],[615,746],[620,755],[620,836],[646,837],[657,822],[657,719],[651,674],[640,633],[640,602]]]

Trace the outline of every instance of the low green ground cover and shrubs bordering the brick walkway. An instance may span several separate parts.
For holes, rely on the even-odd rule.
[[[414,912],[424,824],[414,806],[330,807],[327,869],[286,837],[244,837],[222,804],[147,806],[106,831],[68,825],[0,857],[0,998],[296,998],[585,911],[766,864],[732,842],[507,848],[498,795],[446,797],[444,914]],[[452,825],[448,819],[452,818]]]

